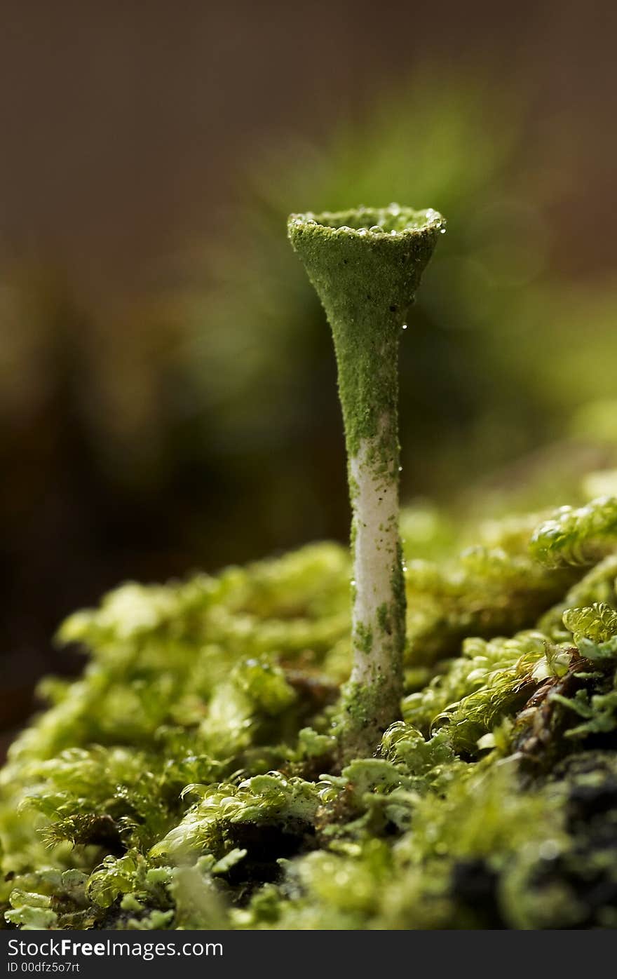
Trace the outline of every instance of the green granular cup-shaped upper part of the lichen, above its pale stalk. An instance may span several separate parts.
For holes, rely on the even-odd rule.
[[[393,390],[390,358],[378,353],[384,345],[398,347],[420,276],[444,229],[436,210],[398,205],[289,218],[292,245],[334,333],[348,451],[377,433],[384,411],[397,410],[397,375]]]

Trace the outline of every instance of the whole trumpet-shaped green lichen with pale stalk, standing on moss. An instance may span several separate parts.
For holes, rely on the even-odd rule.
[[[354,548],[354,668],[343,696],[344,757],[372,753],[403,694],[399,539],[399,341],[445,222],[436,210],[292,214],[289,237],[323,303],[336,350]]]

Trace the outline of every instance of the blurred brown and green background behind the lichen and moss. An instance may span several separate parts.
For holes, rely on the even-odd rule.
[[[609,0],[2,8],[5,730],[115,583],[347,536],[290,210],[449,218],[403,341],[405,497],[543,452],[558,489],[575,443],[614,443]]]

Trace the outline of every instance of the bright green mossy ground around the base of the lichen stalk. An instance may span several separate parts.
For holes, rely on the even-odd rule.
[[[73,616],[84,674],[43,684],[2,772],[6,926],[617,925],[616,509],[462,552],[405,511],[403,716],[342,771],[346,548]]]

